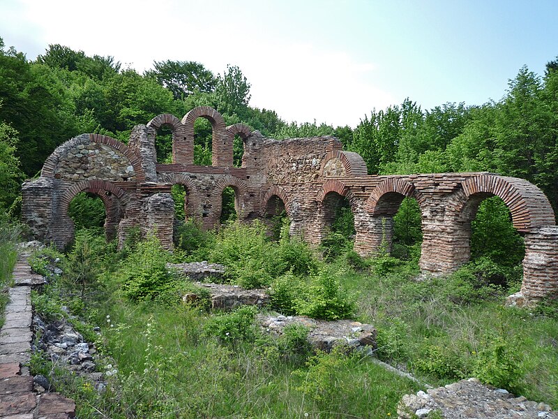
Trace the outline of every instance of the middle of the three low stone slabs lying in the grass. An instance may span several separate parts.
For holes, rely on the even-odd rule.
[[[206,288],[211,296],[211,309],[232,310],[242,305],[263,307],[269,302],[264,289],[247,290],[238,285],[195,283]],[[183,302],[195,302],[199,298],[195,293],[188,293],[182,297]]]

